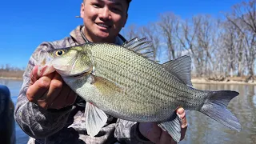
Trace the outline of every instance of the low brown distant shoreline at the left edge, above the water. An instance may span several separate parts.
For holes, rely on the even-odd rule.
[[[0,78],[22,78],[25,68],[18,68],[6,64],[0,67]]]

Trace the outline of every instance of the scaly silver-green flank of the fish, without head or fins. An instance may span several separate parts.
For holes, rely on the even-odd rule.
[[[110,87],[115,94],[97,98],[98,106],[109,114],[152,122],[170,118],[170,110],[178,106],[198,110],[205,102],[205,92],[186,86],[161,65],[121,46],[97,44],[91,53],[96,76],[121,90]]]

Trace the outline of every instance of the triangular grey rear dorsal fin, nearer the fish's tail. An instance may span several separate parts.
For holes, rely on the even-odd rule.
[[[188,55],[163,63],[162,66],[188,86],[191,82],[191,58]]]

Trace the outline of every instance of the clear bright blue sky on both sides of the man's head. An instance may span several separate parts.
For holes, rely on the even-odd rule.
[[[26,67],[41,43],[64,38],[82,24],[82,0],[12,0],[0,5],[0,66]],[[126,26],[158,21],[159,14],[173,12],[181,18],[196,14],[221,15],[241,0],[133,0]]]

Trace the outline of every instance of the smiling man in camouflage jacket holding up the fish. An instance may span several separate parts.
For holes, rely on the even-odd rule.
[[[18,125],[29,134],[30,143],[176,143],[156,122],[132,122],[107,115],[107,122],[94,137],[85,125],[86,102],[56,71],[38,74],[42,50],[78,46],[86,42],[108,42],[122,45],[119,34],[126,24],[131,0],[84,0],[81,5],[83,26],[70,32],[70,37],[43,42],[34,51],[23,76],[15,110]],[[59,53],[59,52],[58,52]],[[47,69],[47,68],[46,68]],[[186,133],[185,110],[176,110],[181,119],[181,139]]]

